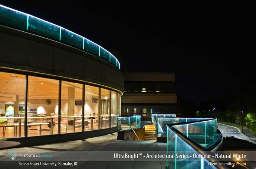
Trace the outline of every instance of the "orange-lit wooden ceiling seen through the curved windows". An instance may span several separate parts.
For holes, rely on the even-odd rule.
[[[29,76],[28,82],[28,99],[58,99],[59,80]],[[82,84],[66,81],[62,81],[62,99],[68,98],[68,87],[75,88],[75,100],[82,100]],[[25,75],[0,72],[0,93],[19,95],[24,100],[24,89]],[[86,100],[98,94],[98,87],[85,85]],[[109,96],[109,90],[101,89],[101,96]]]

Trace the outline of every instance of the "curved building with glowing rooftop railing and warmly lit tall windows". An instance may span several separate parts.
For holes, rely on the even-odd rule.
[[[114,55],[2,5],[0,37],[0,138],[29,146],[116,131],[124,78]]]

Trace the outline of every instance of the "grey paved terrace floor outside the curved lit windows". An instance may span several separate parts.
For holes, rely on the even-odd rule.
[[[53,158],[48,158],[50,161],[78,161],[78,166],[72,166],[72,168],[86,168],[86,169],[164,169],[165,161],[100,161],[106,159],[106,152],[109,152],[109,156],[113,156],[112,151],[119,153],[125,151],[165,151],[166,143],[157,143],[153,141],[123,141],[116,139],[116,133],[108,134],[100,137],[89,138],[85,140],[62,142],[56,144],[40,145],[33,147],[13,148],[9,149],[9,153],[6,150],[0,150],[0,168],[1,169],[21,169],[31,168],[27,166],[19,166],[18,162],[30,162],[35,158],[19,158],[14,161],[10,159],[10,153],[16,154],[49,154],[53,155]],[[103,152],[105,154],[103,154]],[[56,158],[55,158],[56,157]],[[42,158],[41,158],[42,159]],[[45,158],[46,159],[46,158]],[[26,161],[24,161],[26,160]],[[37,159],[36,159],[37,160]],[[36,161],[35,160],[35,161]],[[44,159],[43,159],[44,160]],[[54,168],[49,166],[37,166],[33,168]],[[59,168],[55,167],[55,168]],[[60,167],[62,169],[69,168],[68,166]]]

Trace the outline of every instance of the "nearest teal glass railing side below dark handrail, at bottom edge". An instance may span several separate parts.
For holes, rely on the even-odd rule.
[[[190,155],[199,155],[199,153],[179,135],[175,134],[169,127],[167,128],[167,155],[172,154],[186,154],[188,157],[167,158],[168,169],[190,169],[190,168],[204,168],[215,169],[215,166],[208,165],[208,159],[193,158]]]

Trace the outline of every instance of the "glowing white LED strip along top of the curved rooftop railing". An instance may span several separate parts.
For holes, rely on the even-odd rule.
[[[79,37],[85,38],[85,37],[83,37],[83,36],[81,36],[81,35],[79,35],[79,34],[76,34],[75,32],[72,32],[72,31],[70,31],[70,30],[68,30],[68,29],[65,29],[65,28],[63,28],[63,27],[61,27],[61,26],[59,26],[59,25],[50,23],[50,22],[48,22],[48,21],[46,21],[46,20],[43,20],[43,19],[41,19],[41,18],[37,18],[37,17],[35,17],[35,16],[33,16],[33,15],[24,13],[24,12],[22,12],[22,11],[15,10],[15,9],[10,8],[10,7],[7,7],[7,6],[3,6],[3,5],[1,5],[1,4],[0,4],[0,7],[7,8],[7,9],[9,9],[9,10],[13,10],[13,11],[16,11],[16,12],[18,12],[18,13],[27,15],[27,28],[26,28],[27,30],[28,30],[28,24],[29,24],[29,17],[33,17],[33,18],[36,18],[36,19],[38,19],[38,20],[44,21],[44,22],[46,22],[46,23],[55,25],[56,27],[59,27],[59,28],[60,28],[60,32],[61,32],[61,29],[64,29],[64,30],[67,30],[67,31],[69,31],[69,32],[71,32],[71,33],[73,33],[73,34],[75,34],[75,35],[78,35]],[[89,40],[89,39],[87,39],[87,38],[85,38],[85,39],[88,40],[88,41],[90,41],[90,42],[92,42],[91,40]],[[98,45],[98,44],[96,44],[95,42],[92,42],[92,43],[95,44],[95,45]],[[102,48],[102,46],[100,46],[100,45],[98,45],[98,46],[99,46],[99,48]],[[102,49],[104,49],[104,48],[102,48]],[[104,50],[107,51],[106,49],[104,49]],[[109,52],[109,51],[108,51],[108,52]],[[111,53],[109,52],[109,54],[111,54]],[[113,55],[113,54],[111,54],[111,55]],[[113,56],[114,56],[114,55],[113,55]],[[116,59],[115,56],[114,56],[114,58]],[[116,59],[116,61],[118,62],[118,64],[119,64],[119,69],[120,69],[120,63],[119,63],[119,61],[118,61],[117,59]],[[116,65],[116,66],[117,66],[117,65]]]

